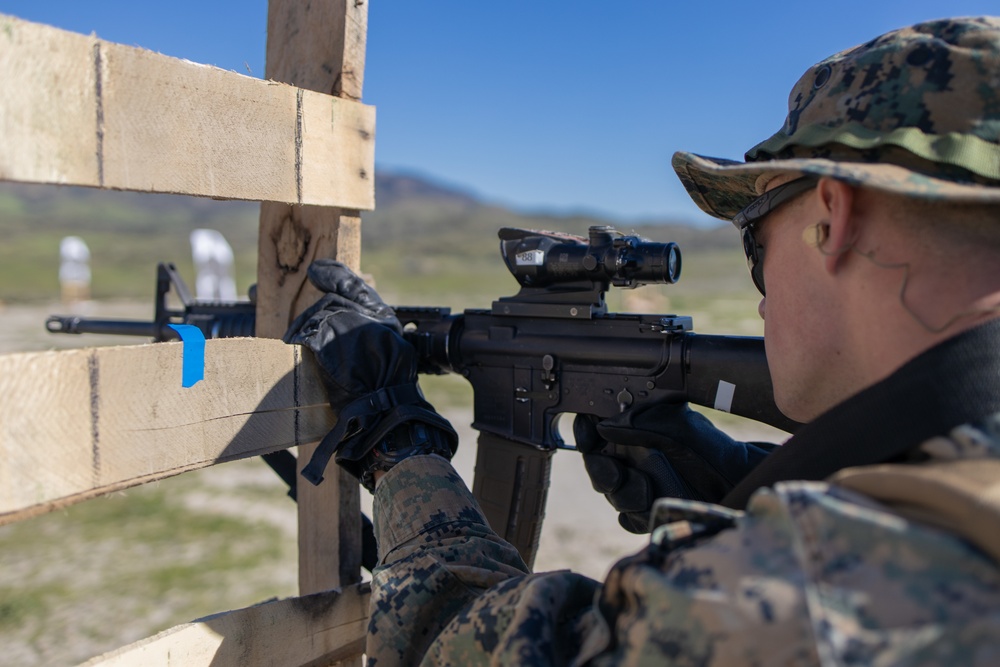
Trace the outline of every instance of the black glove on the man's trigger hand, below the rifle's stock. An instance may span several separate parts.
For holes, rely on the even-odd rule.
[[[687,403],[642,406],[605,421],[579,415],[573,433],[594,489],[633,533],[649,532],[657,498],[718,502],[776,447],[733,440]]]

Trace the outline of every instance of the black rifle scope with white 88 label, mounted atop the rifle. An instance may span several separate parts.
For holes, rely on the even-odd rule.
[[[675,283],[681,275],[676,243],[654,243],[604,225],[591,227],[586,239],[505,227],[500,251],[522,287],[578,282],[638,287]]]

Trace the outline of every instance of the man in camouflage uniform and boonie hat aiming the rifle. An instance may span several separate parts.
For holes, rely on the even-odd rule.
[[[998,91],[1000,20],[920,24],[807,71],[745,162],[674,167],[737,226],[790,174],[1000,204]],[[852,250],[877,265],[823,255]],[[1000,664],[1000,317],[971,312],[802,420],[723,504],[658,500],[650,545],[603,583],[530,573],[446,458],[396,456],[375,473],[370,664]]]

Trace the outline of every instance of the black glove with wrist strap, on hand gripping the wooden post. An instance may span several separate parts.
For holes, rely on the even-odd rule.
[[[313,484],[336,452],[336,461],[374,489],[375,470],[406,456],[450,459],[458,435],[417,386],[417,357],[403,339],[391,307],[344,264],[331,259],[309,266],[310,282],[325,292],[295,318],[286,343],[316,355],[337,425],[323,438],[302,476]]]

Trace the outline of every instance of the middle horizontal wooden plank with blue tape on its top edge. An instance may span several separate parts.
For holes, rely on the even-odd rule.
[[[214,463],[316,442],[333,426],[311,353],[209,340],[0,356],[0,525]]]

